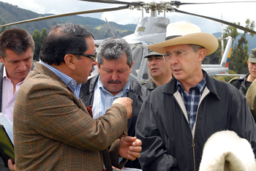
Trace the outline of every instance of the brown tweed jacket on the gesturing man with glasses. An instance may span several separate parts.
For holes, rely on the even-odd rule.
[[[69,86],[39,63],[20,86],[13,118],[18,170],[102,170],[103,158],[112,170],[110,156],[118,156],[117,139],[127,129],[123,105],[93,119]],[[113,153],[104,156],[110,145]]]

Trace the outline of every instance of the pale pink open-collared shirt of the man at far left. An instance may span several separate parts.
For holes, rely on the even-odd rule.
[[[25,80],[25,79],[24,79]],[[13,122],[13,107],[15,103],[15,99],[17,96],[17,92],[22,85],[23,81],[16,85],[15,94],[13,94],[13,84],[10,78],[7,77],[7,72],[4,66],[4,73],[3,73],[3,87],[2,87],[2,96],[1,96],[1,113]]]

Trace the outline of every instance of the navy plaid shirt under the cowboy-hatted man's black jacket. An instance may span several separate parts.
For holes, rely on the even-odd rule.
[[[195,119],[197,116],[197,107],[205,87],[206,76],[203,78],[203,80],[200,81],[200,83],[197,83],[195,87],[189,88],[189,94],[187,94],[187,92],[184,91],[184,88],[182,87],[181,83],[177,80],[177,89],[178,92],[183,97],[184,104],[187,110],[189,126],[191,130],[193,129],[193,126],[195,124]]]

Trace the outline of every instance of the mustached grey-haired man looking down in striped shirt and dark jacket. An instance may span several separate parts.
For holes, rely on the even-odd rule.
[[[129,136],[135,136],[135,123],[141,104],[148,95],[138,81],[129,80],[132,71],[132,49],[124,40],[116,37],[105,39],[97,50],[98,72],[83,84],[80,99],[86,106],[92,106],[93,118],[105,114],[108,107],[119,97],[132,99],[132,117],[127,123]],[[140,168],[139,161],[127,161],[125,167]]]

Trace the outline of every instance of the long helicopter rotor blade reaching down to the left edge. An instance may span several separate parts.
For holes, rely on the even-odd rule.
[[[45,16],[42,18],[33,18],[29,20],[21,20],[15,23],[8,23],[1,25],[0,27],[5,27],[5,26],[12,26],[15,24],[20,24],[20,23],[29,23],[33,21],[38,21],[38,20],[46,20],[46,19],[51,19],[51,18],[61,18],[61,17],[67,17],[70,15],[81,15],[81,14],[89,14],[89,13],[96,13],[96,12],[108,12],[108,11],[116,11],[120,9],[128,9],[128,5],[121,6],[121,7],[112,7],[112,8],[102,8],[102,9],[91,9],[91,10],[86,10],[86,11],[79,11],[79,12],[69,12],[69,13],[64,13],[64,14],[59,14],[59,15],[50,15],[50,16]]]

